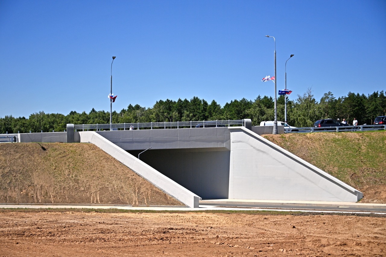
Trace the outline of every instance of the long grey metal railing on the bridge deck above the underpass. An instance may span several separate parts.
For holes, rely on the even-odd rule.
[[[190,122],[146,122],[146,123],[115,123],[115,124],[81,124],[74,125],[77,130],[139,130],[166,128],[195,128],[200,127],[230,127],[232,125],[245,126],[244,120],[210,120]]]

